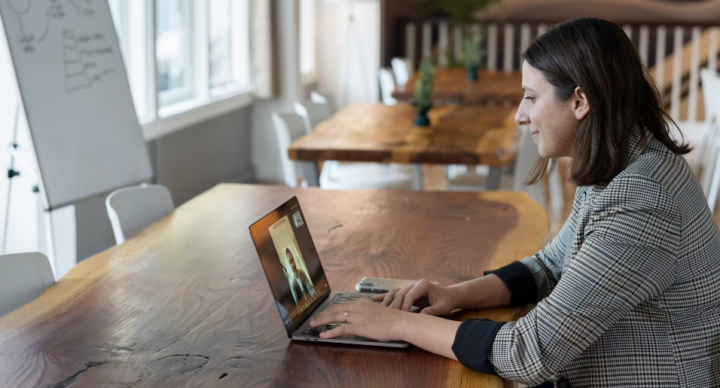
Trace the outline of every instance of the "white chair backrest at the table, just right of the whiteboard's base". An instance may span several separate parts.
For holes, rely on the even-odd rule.
[[[105,206],[118,245],[175,210],[170,190],[146,184],[113,191]]]

